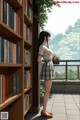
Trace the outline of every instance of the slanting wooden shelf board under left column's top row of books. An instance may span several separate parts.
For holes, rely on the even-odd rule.
[[[9,28],[5,23],[2,23],[1,21],[0,21],[0,35],[3,38],[8,39],[9,41],[14,43],[17,43],[20,40],[22,40],[22,37],[19,34],[17,34],[14,30]]]

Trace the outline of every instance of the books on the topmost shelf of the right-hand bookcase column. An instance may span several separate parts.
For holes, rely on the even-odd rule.
[[[33,13],[32,13],[32,9],[31,9],[31,6],[29,5],[28,0],[24,0],[24,12],[26,13],[28,18],[32,22],[33,21]]]

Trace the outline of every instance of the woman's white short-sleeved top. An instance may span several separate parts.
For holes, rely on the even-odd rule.
[[[40,45],[38,54],[42,55],[44,60],[52,60],[53,58],[53,51],[47,47],[47,42]]]

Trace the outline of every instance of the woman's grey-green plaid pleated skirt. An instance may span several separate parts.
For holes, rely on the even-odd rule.
[[[54,79],[54,64],[52,60],[45,60],[42,64],[40,71],[41,80],[53,80]]]

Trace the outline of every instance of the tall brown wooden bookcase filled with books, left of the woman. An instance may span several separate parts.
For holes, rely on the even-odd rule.
[[[0,0],[0,113],[9,120],[33,106],[32,29],[32,0]]]

